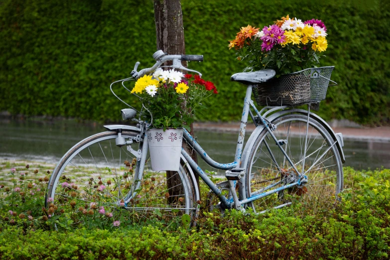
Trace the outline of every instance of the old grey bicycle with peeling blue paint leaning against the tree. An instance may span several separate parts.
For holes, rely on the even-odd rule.
[[[137,62],[130,78],[113,82],[110,86],[112,93],[120,99],[112,90],[113,84],[122,83],[127,89],[126,81],[138,79],[158,67],[201,75],[183,67],[181,61],[203,61],[202,55],[166,55],[157,51],[153,58],[156,63],[151,68],[137,72]],[[172,65],[161,66],[166,61],[172,61]],[[330,75],[329,79],[321,76],[320,69],[312,69],[315,75],[310,74],[310,77],[325,78],[328,85]],[[74,145],[51,175],[46,204],[48,198],[60,204],[76,200],[87,208],[88,204],[99,201],[99,205],[127,209],[135,217],[147,219],[154,214],[168,220],[188,214],[195,222],[200,209],[195,174],[210,188],[210,203],[217,200],[215,205],[209,205],[210,209],[251,208],[256,213],[263,213],[294,201],[310,202],[315,206],[322,197],[337,198],[343,188],[342,163],[345,157],[342,134],[335,133],[324,120],[310,112],[315,105],[311,102],[306,102],[307,110],[280,104],[265,106],[258,111],[251,99],[253,90],[259,91],[257,85],[271,80],[274,75],[272,70],[262,70],[232,76],[232,81],[247,86],[233,162],[214,161],[195,138],[183,130],[183,140],[208,165],[226,170],[226,181],[214,184],[184,149],[179,171],[169,174],[148,171],[145,130],[149,124],[140,118],[135,119],[137,111],[120,99],[131,108],[122,110],[123,119],[136,121],[136,127],[104,126],[107,131]],[[271,102],[268,97],[265,100]],[[249,117],[256,129],[244,146]],[[137,145],[136,149],[132,147],[134,145]]]

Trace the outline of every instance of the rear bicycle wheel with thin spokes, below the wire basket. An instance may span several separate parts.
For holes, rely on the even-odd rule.
[[[278,140],[287,140],[282,147],[307,183],[293,186],[250,202],[256,212],[301,202],[315,213],[334,201],[343,186],[343,168],[339,151],[331,134],[316,120],[289,114],[275,119]],[[306,142],[306,152],[304,150]],[[304,162],[304,165],[303,165]],[[297,181],[297,174],[267,130],[256,139],[247,164],[247,197],[262,194]],[[329,199],[329,198],[333,198]]]

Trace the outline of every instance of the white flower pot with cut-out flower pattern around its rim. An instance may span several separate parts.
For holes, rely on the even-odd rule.
[[[183,129],[146,131],[153,171],[178,171]]]

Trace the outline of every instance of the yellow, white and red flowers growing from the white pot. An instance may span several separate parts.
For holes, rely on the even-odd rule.
[[[154,128],[186,128],[193,122],[196,110],[206,108],[202,102],[217,88],[199,75],[183,74],[175,70],[158,68],[152,75],[139,78],[131,90],[142,101],[143,120]]]

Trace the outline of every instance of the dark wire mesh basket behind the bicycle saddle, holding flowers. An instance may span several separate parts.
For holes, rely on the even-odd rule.
[[[326,97],[334,66],[304,69],[281,75],[253,88],[259,106],[298,106],[318,103]],[[333,85],[329,85],[332,81]]]

